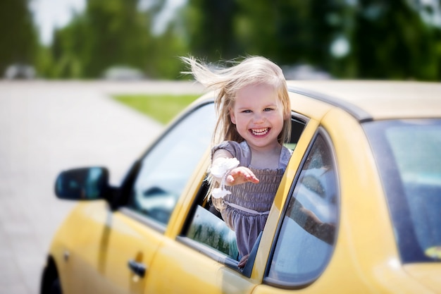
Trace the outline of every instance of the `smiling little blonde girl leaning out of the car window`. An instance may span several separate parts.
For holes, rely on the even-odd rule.
[[[196,80],[217,91],[209,193],[235,231],[244,267],[291,157],[283,146],[291,132],[286,81],[280,67],[260,56],[230,68],[183,60]]]

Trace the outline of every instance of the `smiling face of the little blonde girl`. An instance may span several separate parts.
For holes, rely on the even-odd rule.
[[[238,90],[230,118],[251,149],[266,151],[280,147],[283,107],[270,85],[249,85]]]

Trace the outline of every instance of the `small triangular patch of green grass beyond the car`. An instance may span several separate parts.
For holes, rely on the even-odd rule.
[[[125,94],[115,95],[113,98],[118,102],[136,109],[142,114],[146,114],[160,123],[166,124],[199,96],[200,95],[197,94]]]

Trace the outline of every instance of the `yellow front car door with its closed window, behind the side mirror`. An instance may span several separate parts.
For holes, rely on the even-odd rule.
[[[212,103],[195,106],[137,161],[108,216],[104,278],[112,293],[144,293],[159,247],[169,243],[190,176],[211,142]],[[171,274],[171,273],[169,273]]]

